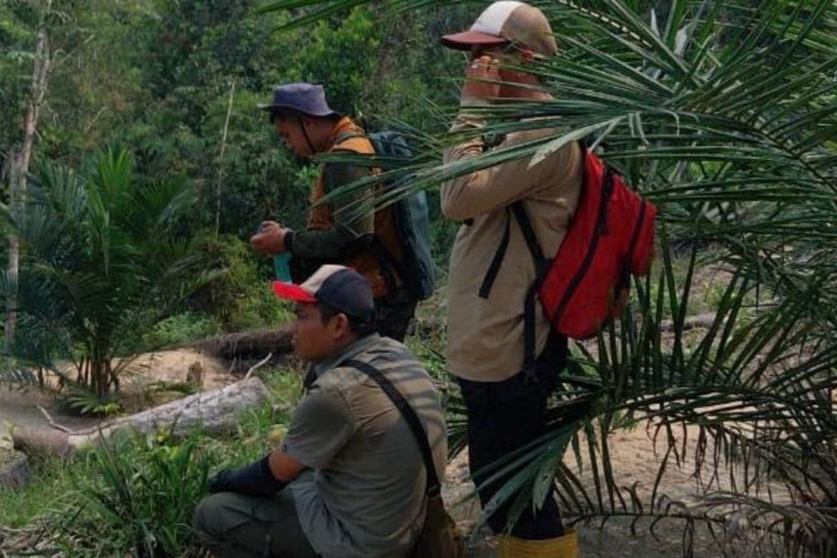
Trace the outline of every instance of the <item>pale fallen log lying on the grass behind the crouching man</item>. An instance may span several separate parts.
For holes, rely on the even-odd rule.
[[[267,397],[262,381],[251,377],[84,430],[69,430],[52,421],[51,429],[18,427],[13,429],[12,442],[15,449],[24,453],[67,456],[116,433],[146,434],[163,430],[174,438],[182,438],[202,428],[207,433],[218,434],[234,429],[241,412],[258,407]]]

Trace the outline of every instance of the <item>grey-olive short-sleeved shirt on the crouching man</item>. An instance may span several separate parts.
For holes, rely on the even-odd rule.
[[[344,366],[371,364],[398,389],[429,433],[444,479],[444,416],[424,366],[405,346],[373,334],[314,366],[284,449],[311,471],[290,484],[300,525],[325,558],[407,556],[424,522],[427,486],[419,444],[377,383]]]

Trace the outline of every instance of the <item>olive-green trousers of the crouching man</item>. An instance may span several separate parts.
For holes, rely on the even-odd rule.
[[[316,558],[290,489],[258,497],[220,492],[198,504],[193,527],[218,558]]]

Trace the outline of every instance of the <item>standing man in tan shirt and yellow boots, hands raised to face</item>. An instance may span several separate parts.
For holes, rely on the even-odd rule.
[[[486,126],[485,110],[475,106],[551,99],[537,75],[527,71],[557,53],[539,9],[492,3],[468,31],[447,35],[442,43],[470,53],[452,131],[470,131],[473,138],[446,151],[445,162],[557,133],[519,131],[494,141],[473,133]],[[455,178],[441,191],[445,216],[465,223],[450,256],[447,362],[465,398],[470,470],[484,506],[503,483],[480,485],[493,474],[480,470],[545,432],[547,400],[567,358],[566,338],[551,331],[541,311],[526,312],[524,301],[537,270],[511,205],[521,202],[543,252],[556,253],[578,202],[583,156],[569,142],[537,166],[530,168],[530,161],[526,157]],[[495,264],[501,246],[505,255]],[[493,288],[486,289],[490,274]],[[575,533],[563,529],[554,494],[547,494],[540,509],[528,506],[508,531],[514,499],[488,520],[492,530],[504,534],[501,556],[576,555]]]

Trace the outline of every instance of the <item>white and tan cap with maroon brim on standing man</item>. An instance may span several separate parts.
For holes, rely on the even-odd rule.
[[[444,46],[458,50],[507,43],[543,56],[558,51],[547,17],[538,8],[522,2],[495,2],[485,8],[468,31],[442,37]]]

